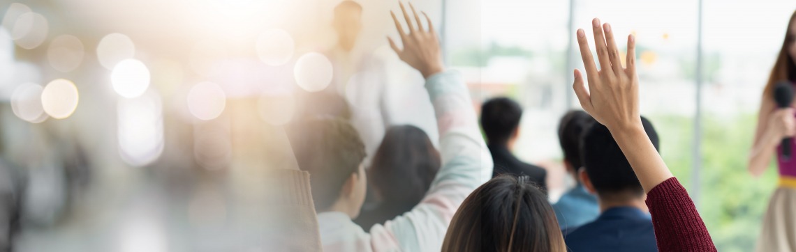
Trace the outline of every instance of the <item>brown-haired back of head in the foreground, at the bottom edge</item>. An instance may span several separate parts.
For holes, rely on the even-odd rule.
[[[556,215],[535,185],[512,175],[470,193],[448,227],[443,251],[566,251]]]

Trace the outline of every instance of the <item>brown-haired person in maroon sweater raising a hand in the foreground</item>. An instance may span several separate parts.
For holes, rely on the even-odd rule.
[[[593,21],[597,70],[585,32],[577,38],[588,88],[575,71],[580,105],[611,132],[647,195],[659,251],[716,251],[685,188],[658,155],[642,126],[634,36],[627,38],[622,67],[611,25]],[[448,227],[443,251],[566,251],[556,216],[544,193],[521,176],[503,175],[475,189]]]

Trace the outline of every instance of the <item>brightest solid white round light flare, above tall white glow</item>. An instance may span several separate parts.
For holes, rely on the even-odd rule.
[[[125,59],[111,72],[111,84],[122,97],[139,97],[150,85],[150,71],[137,59]]]

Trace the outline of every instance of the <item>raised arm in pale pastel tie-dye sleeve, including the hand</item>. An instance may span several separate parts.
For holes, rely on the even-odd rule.
[[[439,39],[426,16],[424,29],[419,15],[413,18],[401,4],[408,32],[392,14],[403,48],[392,39],[390,46],[401,60],[426,78],[426,90],[434,105],[439,128],[439,152],[442,166],[426,197],[412,211],[371,229],[373,239],[395,235],[404,251],[439,251],[448,224],[458,206],[478,185],[490,179],[492,158],[478,130],[470,93],[462,78],[445,71]],[[413,25],[415,23],[416,25]],[[374,241],[373,244],[377,242]]]

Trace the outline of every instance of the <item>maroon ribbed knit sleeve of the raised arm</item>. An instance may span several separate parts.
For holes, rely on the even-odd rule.
[[[677,178],[669,178],[650,190],[646,204],[658,251],[716,251],[708,228]]]

